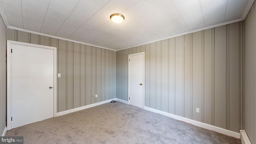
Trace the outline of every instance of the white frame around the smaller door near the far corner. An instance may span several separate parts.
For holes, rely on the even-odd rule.
[[[128,104],[130,104],[130,57],[142,54],[142,109],[145,106],[145,52],[138,52],[128,55]]]

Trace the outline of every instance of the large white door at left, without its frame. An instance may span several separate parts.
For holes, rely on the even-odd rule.
[[[54,116],[54,50],[12,44],[11,126]],[[7,124],[8,125],[8,124]]]

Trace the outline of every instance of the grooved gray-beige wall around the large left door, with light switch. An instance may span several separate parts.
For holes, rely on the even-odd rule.
[[[57,47],[57,112],[116,98],[116,51],[9,28],[6,38]]]

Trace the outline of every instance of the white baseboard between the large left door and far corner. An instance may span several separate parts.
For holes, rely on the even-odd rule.
[[[63,112],[57,112],[56,116],[63,116],[63,115],[65,115],[65,114],[70,114],[70,113],[72,113],[72,112],[77,112],[77,111],[79,111],[79,110],[84,110],[84,109],[86,109],[86,108],[92,108],[92,107],[94,107],[94,106],[98,106],[98,105],[101,105],[101,104],[106,104],[106,103],[108,103],[108,102],[111,102],[112,100],[116,100],[116,98],[113,98],[113,99],[110,99],[110,100],[105,100],[105,101],[102,101],[102,102],[97,102],[97,103],[95,103],[95,104],[89,104],[89,105],[87,105],[87,106],[81,106],[81,107],[79,107],[79,108],[73,108],[73,109],[71,109],[71,110],[66,110],[66,111],[63,111]]]

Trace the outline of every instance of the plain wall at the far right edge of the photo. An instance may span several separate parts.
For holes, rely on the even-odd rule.
[[[256,4],[245,19],[245,130],[256,144]]]

